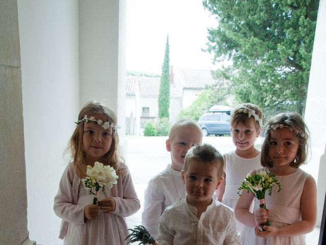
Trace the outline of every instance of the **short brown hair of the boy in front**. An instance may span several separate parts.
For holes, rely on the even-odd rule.
[[[184,159],[184,173],[186,173],[189,163],[193,160],[198,160],[202,163],[207,163],[216,167],[218,169],[218,179],[222,178],[224,159],[221,153],[212,145],[203,143],[195,145],[189,149]]]

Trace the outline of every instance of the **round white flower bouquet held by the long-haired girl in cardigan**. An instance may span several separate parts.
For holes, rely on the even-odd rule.
[[[102,188],[104,191],[105,187],[111,189],[113,185],[117,184],[116,170],[109,165],[104,166],[103,163],[95,162],[94,167],[88,165],[86,179],[83,179],[83,183],[86,188],[90,189],[90,194],[94,194],[93,204],[97,204],[98,191]],[[95,191],[93,192],[93,188]]]

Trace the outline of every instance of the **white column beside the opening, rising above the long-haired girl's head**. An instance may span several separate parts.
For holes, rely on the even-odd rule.
[[[79,1],[80,107],[105,100],[125,133],[126,1]]]

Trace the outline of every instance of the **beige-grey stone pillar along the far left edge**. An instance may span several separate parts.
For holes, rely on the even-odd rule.
[[[27,195],[17,2],[0,1],[0,244],[35,244]]]

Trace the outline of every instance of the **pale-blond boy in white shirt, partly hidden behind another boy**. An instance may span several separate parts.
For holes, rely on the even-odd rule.
[[[171,127],[166,149],[171,152],[171,164],[154,176],[145,190],[142,225],[156,238],[159,217],[165,208],[185,197],[180,171],[187,151],[200,144],[203,134],[198,123],[191,119],[181,119]]]

